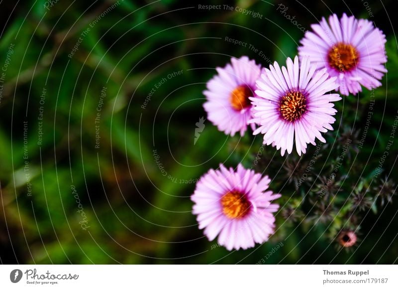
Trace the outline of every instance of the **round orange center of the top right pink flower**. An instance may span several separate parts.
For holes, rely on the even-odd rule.
[[[340,72],[350,71],[358,63],[358,51],[350,44],[337,43],[327,55],[330,67]]]

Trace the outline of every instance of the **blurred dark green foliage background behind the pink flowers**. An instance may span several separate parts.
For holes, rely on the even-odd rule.
[[[307,29],[331,11],[369,17],[361,1],[350,6],[343,1],[328,6],[282,2]],[[14,45],[0,101],[1,263],[253,264],[281,241],[284,246],[266,263],[397,261],[398,201],[361,213],[362,241],[351,252],[336,251],[332,242],[346,222],[344,206],[333,222],[314,224],[308,221],[310,209],[302,205],[319,183],[317,176],[333,169],[343,128],[362,134],[369,91],[336,104],[335,131],[322,146],[312,183],[299,189],[284,166],[304,166],[315,146],[301,158],[295,153],[281,157],[267,146],[262,164],[253,165],[260,136],[230,138],[208,121],[194,145],[195,124],[206,118],[202,91],[216,66],[241,55],[268,66],[297,53],[303,33],[276,11],[278,1],[231,4],[257,11],[261,18],[175,0],[48,3],[0,4],[0,66]],[[372,20],[387,35],[389,72],[375,92],[365,144],[359,152],[351,150],[339,169],[344,184],[335,201],[341,204],[359,183],[375,186],[372,176],[398,114],[397,39],[389,20],[394,1],[369,1],[369,6]],[[253,45],[263,56],[226,42],[226,36]],[[174,76],[178,71],[181,75]],[[395,141],[380,178],[397,178],[397,147]],[[307,217],[286,221],[281,210],[269,242],[233,253],[213,249],[215,242],[206,240],[191,213],[190,195],[195,180],[220,162],[265,169],[274,179],[271,188],[283,194],[281,208],[301,207]]]

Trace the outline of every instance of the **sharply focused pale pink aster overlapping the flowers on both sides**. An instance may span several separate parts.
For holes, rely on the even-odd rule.
[[[288,58],[282,70],[277,62],[264,69],[257,81],[259,97],[250,98],[254,105],[251,122],[259,125],[253,134],[264,134],[264,144],[272,144],[284,155],[292,152],[293,142],[299,155],[315,138],[325,143],[321,132],[333,130],[336,110],[332,101],[338,94],[326,94],[338,87],[336,77],[328,78],[326,69],[315,72],[316,66],[304,58],[300,65]]]

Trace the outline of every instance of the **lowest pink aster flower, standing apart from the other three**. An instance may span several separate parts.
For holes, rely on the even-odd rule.
[[[275,217],[279,208],[271,204],[280,194],[267,191],[268,176],[245,169],[210,169],[197,183],[191,199],[195,202],[193,213],[198,215],[199,229],[209,241],[218,235],[218,244],[228,250],[254,247],[274,233]]]

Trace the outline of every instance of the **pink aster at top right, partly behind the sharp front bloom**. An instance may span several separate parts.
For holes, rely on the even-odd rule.
[[[340,93],[348,95],[381,86],[387,61],[386,36],[365,19],[348,17],[345,13],[339,20],[336,14],[329,17],[329,23],[322,18],[319,24],[312,24],[298,47],[300,59],[309,56],[318,69],[326,68],[330,76],[338,76]]]

